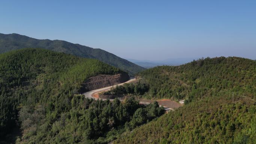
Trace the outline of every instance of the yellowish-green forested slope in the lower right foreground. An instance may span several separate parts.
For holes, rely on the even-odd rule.
[[[256,103],[212,96],[123,134],[113,144],[256,144]]]

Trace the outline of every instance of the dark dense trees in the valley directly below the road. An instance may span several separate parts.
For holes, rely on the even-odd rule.
[[[48,112],[47,105],[24,106],[19,111],[23,136],[19,144],[105,144],[164,113],[158,104],[140,105],[134,97],[94,101],[76,95],[68,111]],[[157,111],[152,115],[152,111]],[[143,120],[141,120],[143,116]]]

